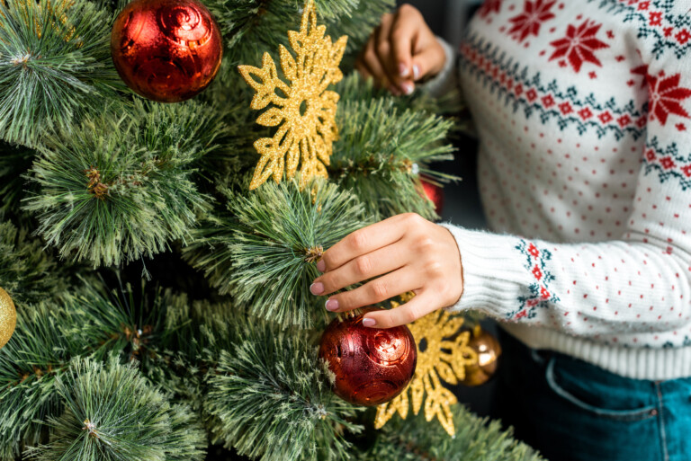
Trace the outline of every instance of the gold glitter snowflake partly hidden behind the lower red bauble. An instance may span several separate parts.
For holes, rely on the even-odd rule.
[[[402,297],[407,300],[410,296]],[[399,303],[391,303],[394,307]],[[436,311],[408,324],[417,341],[417,369],[408,389],[389,403],[377,407],[374,427],[380,429],[397,412],[408,417],[409,402],[417,414],[425,402],[425,419],[437,419],[449,436],[455,435],[451,406],[458,399],[442,381],[456,385],[465,377],[465,368],[477,362],[477,353],[468,346],[470,332],[459,333],[462,317]],[[408,395],[409,394],[409,395]]]

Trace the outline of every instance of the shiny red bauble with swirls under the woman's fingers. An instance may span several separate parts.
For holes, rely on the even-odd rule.
[[[336,319],[321,336],[319,357],[336,375],[334,393],[356,405],[389,402],[415,374],[417,345],[407,326],[389,329],[363,326],[363,314]]]

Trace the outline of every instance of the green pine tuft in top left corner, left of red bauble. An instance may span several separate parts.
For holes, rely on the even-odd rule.
[[[85,0],[0,2],[0,138],[37,146],[116,97],[109,13]]]

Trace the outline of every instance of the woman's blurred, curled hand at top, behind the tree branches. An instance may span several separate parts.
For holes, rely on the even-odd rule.
[[[355,67],[391,93],[410,94],[415,82],[438,74],[446,62],[444,48],[417,8],[402,5],[384,14]]]

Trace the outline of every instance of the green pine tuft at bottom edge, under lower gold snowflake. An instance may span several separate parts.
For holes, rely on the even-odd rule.
[[[524,443],[512,439],[499,421],[488,421],[464,406],[452,407],[456,436],[451,438],[439,424],[430,424],[420,412],[407,421],[396,418],[381,430],[376,442],[358,459],[381,461],[541,461],[543,458]]]

